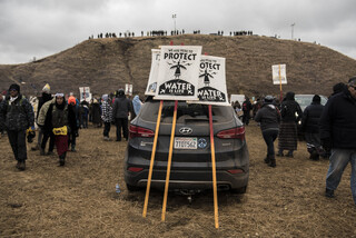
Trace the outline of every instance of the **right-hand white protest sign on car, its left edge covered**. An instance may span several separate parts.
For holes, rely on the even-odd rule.
[[[225,58],[201,56],[198,99],[190,103],[230,106],[226,90]]]

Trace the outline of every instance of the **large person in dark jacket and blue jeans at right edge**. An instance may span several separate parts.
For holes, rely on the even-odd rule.
[[[343,172],[352,166],[350,188],[356,205],[356,76],[346,88],[326,102],[320,117],[320,140],[325,150],[330,150],[326,175],[325,196],[334,198]]]

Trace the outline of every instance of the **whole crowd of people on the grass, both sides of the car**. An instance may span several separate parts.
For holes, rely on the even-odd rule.
[[[246,127],[251,116],[258,122],[267,146],[264,161],[273,168],[276,167],[276,156],[294,157],[298,146],[297,123],[301,121],[309,159],[318,160],[322,157],[329,160],[325,196],[335,197],[334,191],[350,162],[350,188],[356,205],[356,77],[347,83],[335,85],[333,90],[325,106],[320,103],[320,97],[315,95],[304,111],[293,91],[287,92],[280,103],[273,96],[260,98],[255,103],[246,97],[241,105],[236,102],[233,107]],[[0,97],[0,133],[6,130],[19,170],[26,169],[26,140],[31,139],[29,136],[33,137],[34,122],[39,130],[38,141],[32,149],[44,156],[53,155],[56,147],[59,165],[65,166],[67,151],[76,151],[78,131],[88,128],[88,120],[95,127],[102,127],[103,123],[103,140],[110,140],[111,125],[116,126],[116,141],[121,141],[122,137],[128,140],[129,118],[135,118],[142,106],[139,96],[130,100],[123,89],[102,95],[100,99],[92,99],[88,103],[86,100],[80,102],[73,93],[68,100],[62,92],[52,96],[49,85],[43,87],[38,98],[36,116],[29,100],[20,93],[19,85],[11,85],[6,98],[2,100]],[[277,138],[278,151],[275,152],[274,142]]]

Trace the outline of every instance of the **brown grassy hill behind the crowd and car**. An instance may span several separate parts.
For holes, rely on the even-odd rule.
[[[144,96],[151,63],[151,49],[184,43],[202,46],[202,53],[226,58],[228,93],[279,95],[271,81],[271,66],[286,63],[288,85],[284,92],[328,96],[337,82],[356,75],[356,60],[329,48],[268,37],[220,37],[184,34],[175,37],[105,38],[86,40],[41,60],[0,66],[0,90],[12,82],[22,92],[36,95],[48,82],[52,92],[89,86],[95,95],[112,92],[125,83]]]

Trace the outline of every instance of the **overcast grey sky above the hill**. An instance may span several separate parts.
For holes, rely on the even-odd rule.
[[[290,40],[294,32],[356,59],[355,12],[355,0],[0,0],[0,65],[41,59],[100,32],[170,32],[175,21],[187,33],[253,30]]]

